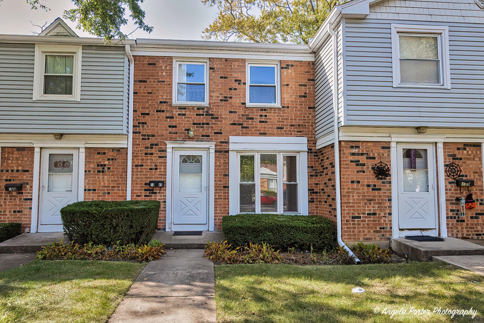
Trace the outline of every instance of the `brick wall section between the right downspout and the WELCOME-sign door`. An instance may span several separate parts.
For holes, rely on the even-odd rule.
[[[391,178],[377,178],[373,171],[380,158],[390,167],[390,142],[340,142],[344,241],[377,243],[392,237]]]

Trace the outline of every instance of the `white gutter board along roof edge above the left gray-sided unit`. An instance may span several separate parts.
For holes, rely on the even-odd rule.
[[[15,44],[63,44],[63,45],[102,45],[122,46],[136,45],[133,39],[112,39],[111,44],[106,44],[103,38],[90,37],[60,37],[60,36],[36,36],[36,35],[4,35],[0,34],[0,43]]]

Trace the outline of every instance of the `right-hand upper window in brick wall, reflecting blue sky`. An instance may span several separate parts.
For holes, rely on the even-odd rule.
[[[247,62],[246,105],[277,107],[281,105],[280,64]]]

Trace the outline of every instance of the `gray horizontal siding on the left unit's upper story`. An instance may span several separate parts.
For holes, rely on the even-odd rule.
[[[32,100],[34,49],[0,44],[0,133],[126,133],[123,47],[83,46],[80,102]]]

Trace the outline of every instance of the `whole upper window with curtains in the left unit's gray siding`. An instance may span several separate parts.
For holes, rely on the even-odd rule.
[[[33,100],[80,101],[82,46],[36,46]]]

